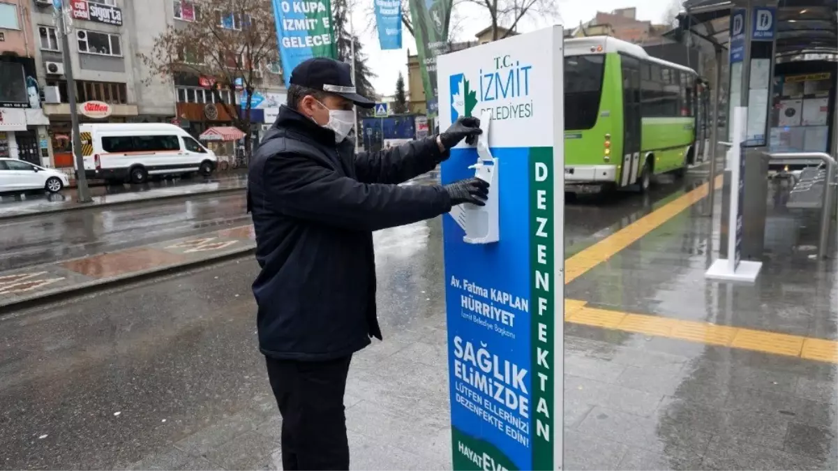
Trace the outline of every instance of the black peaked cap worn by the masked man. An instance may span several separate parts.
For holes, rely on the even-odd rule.
[[[352,83],[352,68],[345,62],[313,57],[303,60],[291,72],[291,84],[343,96],[362,108],[372,108],[375,101],[358,95]]]

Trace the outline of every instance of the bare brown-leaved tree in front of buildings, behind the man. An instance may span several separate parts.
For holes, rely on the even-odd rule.
[[[234,126],[245,132],[249,154],[251,98],[264,83],[267,65],[278,61],[272,5],[265,0],[201,0],[182,5],[179,13],[187,21],[159,34],[149,54],[137,54],[153,71],[147,81],[157,77],[165,82],[184,73],[211,77],[215,103],[224,106]],[[230,100],[221,99],[222,90],[230,91]],[[244,94],[243,116],[235,91]]]

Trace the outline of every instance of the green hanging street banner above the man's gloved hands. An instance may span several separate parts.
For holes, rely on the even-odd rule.
[[[409,0],[427,116],[437,116],[437,55],[448,48],[452,0]]]

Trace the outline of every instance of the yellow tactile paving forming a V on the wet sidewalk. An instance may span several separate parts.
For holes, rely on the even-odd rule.
[[[716,188],[721,186],[722,177],[719,176],[716,178]],[[703,184],[568,258],[565,261],[565,283],[581,277],[696,204],[707,195],[707,189],[707,184]],[[565,300],[565,322],[838,364],[838,342],[833,340],[590,308],[587,301],[575,299]]]

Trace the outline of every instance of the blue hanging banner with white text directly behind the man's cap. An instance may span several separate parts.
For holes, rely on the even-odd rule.
[[[286,88],[291,71],[312,57],[337,59],[330,0],[272,0]]]

